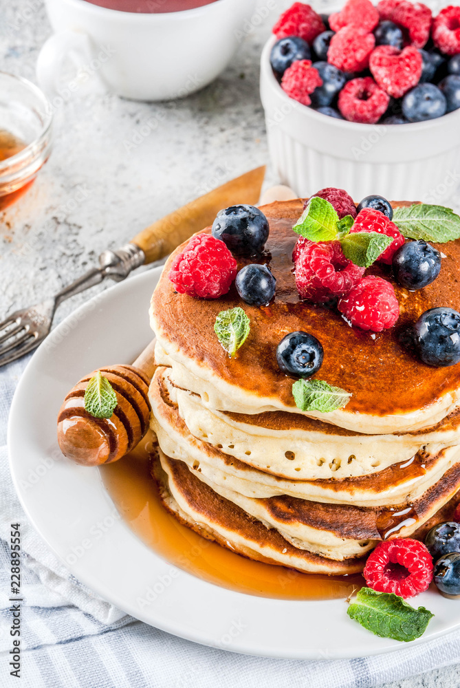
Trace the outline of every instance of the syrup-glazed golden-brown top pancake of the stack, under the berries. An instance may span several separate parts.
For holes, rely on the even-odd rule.
[[[151,303],[157,363],[173,367],[178,386],[199,394],[211,410],[300,413],[292,397],[293,380],[276,363],[276,346],[288,332],[305,330],[318,336],[325,351],[317,377],[352,394],[345,409],[305,415],[369,434],[408,432],[437,424],[460,404],[460,363],[447,368],[425,365],[404,349],[398,336],[428,308],[460,310],[460,241],[435,244],[445,257],[439,277],[428,287],[408,292],[394,285],[401,316],[396,327],[374,335],[349,327],[336,310],[298,298],[291,258],[298,235],[292,225],[302,208],[302,200],[262,208],[270,223],[263,261],[276,277],[276,297],[266,308],[244,304],[251,331],[231,360],[213,327],[217,314],[241,305],[241,299],[234,286],[226,296],[208,301],[175,292],[168,272],[185,245],[177,248]],[[248,262],[240,260],[239,267]],[[390,269],[381,264],[369,272],[392,279]]]

